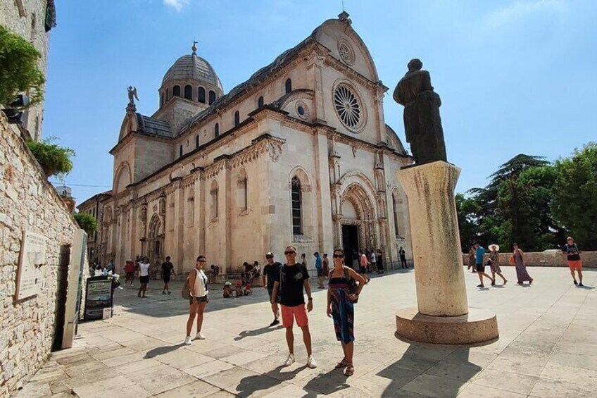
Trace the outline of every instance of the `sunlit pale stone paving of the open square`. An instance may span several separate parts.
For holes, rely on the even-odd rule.
[[[211,294],[203,334],[182,345],[187,303],[181,283],[171,296],[151,281],[149,298],[116,292],[115,316],[82,323],[73,349],[55,352],[15,394],[36,397],[596,397],[597,271],[574,287],[567,268],[529,268],[532,286],[479,290],[465,273],[470,306],[498,316],[500,338],[479,347],[418,344],[394,335],[394,313],[415,305],[412,270],[372,278],[356,309],[356,372],[334,370],[341,359],[325,291],[314,290],[310,313],[318,368],[306,367],[295,328],[296,363],[272,320],[267,292],[223,299]],[[440,281],[439,281],[440,282]],[[315,283],[312,283],[315,285]]]

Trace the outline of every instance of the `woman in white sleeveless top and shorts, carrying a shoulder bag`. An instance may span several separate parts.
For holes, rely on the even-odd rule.
[[[201,325],[203,325],[203,311],[209,302],[207,287],[207,275],[203,272],[203,267],[206,265],[205,256],[197,257],[195,268],[189,273],[189,291],[191,297],[189,304],[191,305],[189,312],[189,320],[187,321],[187,337],[184,339],[184,344],[191,344],[191,330],[193,329],[193,321],[197,317],[197,334],[194,340],[205,340],[205,336],[201,335]]]

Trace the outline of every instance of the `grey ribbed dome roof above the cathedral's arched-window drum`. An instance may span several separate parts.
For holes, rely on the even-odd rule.
[[[220,77],[215,74],[213,67],[208,61],[196,54],[184,55],[178,58],[164,75],[162,86],[168,85],[172,80],[196,80],[205,85],[217,87],[221,93],[224,92]]]

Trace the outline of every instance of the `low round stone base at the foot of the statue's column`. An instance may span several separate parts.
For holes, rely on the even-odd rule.
[[[462,316],[428,316],[416,308],[396,313],[396,332],[415,342],[434,344],[473,344],[499,337],[494,313],[482,309],[468,309]]]

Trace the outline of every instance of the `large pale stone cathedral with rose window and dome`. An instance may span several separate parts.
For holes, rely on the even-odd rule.
[[[165,73],[152,116],[134,92],[103,194],[97,257],[196,256],[221,272],[288,244],[306,253],[379,248],[410,257],[395,170],[413,163],[384,122],[385,87],[348,14],[327,20],[225,94],[210,63],[184,55]]]

